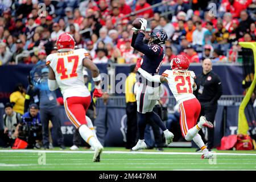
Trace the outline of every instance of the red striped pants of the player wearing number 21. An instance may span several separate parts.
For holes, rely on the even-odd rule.
[[[181,102],[180,110],[180,129],[183,137],[187,135],[188,130],[194,127],[200,114],[201,105],[196,98]]]

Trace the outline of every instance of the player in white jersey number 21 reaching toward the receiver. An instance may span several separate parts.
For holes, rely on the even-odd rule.
[[[177,104],[179,104],[180,127],[183,137],[187,141],[193,140],[201,148],[201,151],[203,151],[202,159],[211,158],[212,154],[208,151],[198,132],[202,127],[212,128],[213,125],[203,116],[200,117],[200,121],[197,123],[201,105],[193,95],[193,90],[196,90],[195,73],[188,71],[189,59],[184,55],[177,55],[171,60],[171,70],[167,69],[162,76],[152,76],[140,67],[141,63],[138,61],[138,72],[148,81],[168,83]]]

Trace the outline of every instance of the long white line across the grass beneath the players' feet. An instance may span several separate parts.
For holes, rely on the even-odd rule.
[[[94,154],[94,151],[49,151],[49,150],[0,150],[0,152],[46,152],[46,153],[65,153],[65,154]],[[158,155],[202,155],[201,152],[130,152],[130,151],[103,151],[104,154],[158,154]],[[247,153],[217,153],[213,155],[252,155]]]

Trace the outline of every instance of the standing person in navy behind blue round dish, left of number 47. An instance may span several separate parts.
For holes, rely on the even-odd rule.
[[[57,108],[56,92],[49,90],[48,87],[48,73],[49,69],[46,67],[44,60],[38,63],[30,71],[28,77],[28,90],[26,94],[25,106],[32,100],[40,107],[40,119],[43,127],[43,147],[45,149],[51,148],[49,137],[49,121],[56,131],[57,144],[61,149],[65,149],[63,134],[61,133],[61,121],[59,117],[59,109]],[[34,84],[34,85],[33,85]]]

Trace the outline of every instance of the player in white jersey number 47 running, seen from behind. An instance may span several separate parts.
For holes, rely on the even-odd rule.
[[[74,49],[75,40],[70,34],[61,34],[56,46],[57,52],[46,58],[46,64],[49,66],[49,89],[60,88],[69,120],[79,129],[81,137],[95,149],[93,162],[100,162],[103,147],[97,140],[92,121],[85,116],[91,97],[85,86],[82,70],[86,67],[92,71],[96,85],[93,97],[102,96],[100,73],[96,65],[88,59],[89,54],[85,49]]]

